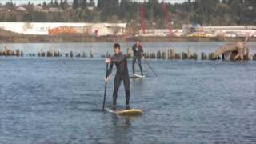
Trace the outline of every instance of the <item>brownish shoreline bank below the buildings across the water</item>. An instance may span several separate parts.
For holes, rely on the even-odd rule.
[[[58,43],[58,42],[244,42],[244,37],[223,38],[223,37],[130,37],[121,36],[85,36],[78,34],[66,34],[58,36],[49,35],[0,35],[0,43]],[[250,37],[248,42],[256,42],[256,37]]]

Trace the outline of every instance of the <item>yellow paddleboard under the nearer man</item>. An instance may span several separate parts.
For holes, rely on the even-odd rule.
[[[137,116],[142,115],[142,110],[139,109],[130,109],[130,110],[110,110],[106,109],[110,113],[122,115],[122,116]]]

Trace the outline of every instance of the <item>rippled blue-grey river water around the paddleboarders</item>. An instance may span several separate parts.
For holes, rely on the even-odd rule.
[[[34,46],[35,51],[46,45],[53,44],[8,44]],[[90,47],[62,44],[73,51],[84,45]],[[94,49],[98,54],[112,46],[96,45],[102,46]],[[145,45],[153,50],[172,44]],[[174,45],[185,50],[188,44]],[[200,52],[221,43],[198,45]],[[143,62],[147,77],[130,80],[131,106],[144,114],[122,118],[102,112],[102,58],[0,58],[0,143],[256,142],[256,62],[148,62],[159,76]],[[108,106],[113,79],[114,73],[107,86]],[[118,108],[125,105],[124,95],[121,86]]]

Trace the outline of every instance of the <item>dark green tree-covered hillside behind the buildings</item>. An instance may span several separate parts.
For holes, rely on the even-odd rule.
[[[95,6],[97,3],[97,6]],[[26,10],[18,11],[12,2],[0,5],[1,22],[127,22],[138,26],[143,6],[147,27],[166,28],[164,3],[158,0],[137,2],[134,0],[74,0],[72,6],[66,0],[43,2],[43,10],[57,8],[58,11],[34,10],[33,3],[24,5]],[[170,21],[174,28],[182,24],[202,26],[255,25],[255,0],[188,0],[183,3],[166,3]],[[16,8],[15,8],[16,7]]]

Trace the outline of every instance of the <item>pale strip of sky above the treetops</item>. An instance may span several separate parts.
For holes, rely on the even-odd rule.
[[[51,0],[12,0],[12,2],[16,4],[24,4],[28,2],[33,2],[33,3],[42,3],[42,2],[50,2]],[[67,0],[68,2],[73,2],[73,0]],[[106,0],[107,1],[107,0]],[[138,2],[144,2],[145,0],[137,0]],[[186,0],[164,0],[165,2],[184,2]],[[10,0],[0,0],[0,3],[5,4],[6,2],[10,2]],[[58,0],[60,2],[60,0]],[[95,1],[96,2],[96,1]],[[159,2],[162,2],[162,0],[159,0]]]

